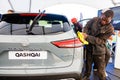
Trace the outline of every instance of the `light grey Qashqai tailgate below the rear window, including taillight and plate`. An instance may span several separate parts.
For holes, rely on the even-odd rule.
[[[14,22],[11,23],[14,27]],[[37,32],[36,30],[33,29],[33,32]],[[73,29],[42,35],[16,35],[16,33],[13,31],[12,34],[0,35],[1,69],[46,69],[70,66],[74,60],[75,48],[82,45]]]

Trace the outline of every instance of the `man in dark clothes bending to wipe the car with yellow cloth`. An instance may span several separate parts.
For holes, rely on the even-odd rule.
[[[86,45],[86,71],[83,80],[89,79],[92,63],[97,68],[99,80],[106,80],[105,66],[107,63],[105,59],[109,60],[109,56],[106,56],[106,41],[114,32],[110,23],[113,16],[114,12],[107,10],[100,17],[94,17],[88,21],[83,29],[84,38],[89,42],[89,45]]]

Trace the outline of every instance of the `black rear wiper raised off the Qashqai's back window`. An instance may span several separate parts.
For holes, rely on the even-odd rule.
[[[33,34],[33,33],[32,33],[32,29],[33,29],[34,25],[38,22],[38,20],[40,20],[40,19],[42,18],[42,16],[44,15],[44,13],[45,13],[45,10],[42,11],[42,12],[40,12],[40,13],[34,18],[33,23],[31,24],[30,28],[26,31],[28,35]]]

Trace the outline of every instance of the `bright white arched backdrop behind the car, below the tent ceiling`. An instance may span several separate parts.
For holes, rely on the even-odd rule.
[[[97,16],[97,11],[98,11],[98,9],[96,8],[92,8],[80,4],[53,5],[51,7],[45,8],[45,10],[47,13],[64,14],[69,18],[69,20],[73,17],[80,19],[81,14],[84,19],[95,17]]]

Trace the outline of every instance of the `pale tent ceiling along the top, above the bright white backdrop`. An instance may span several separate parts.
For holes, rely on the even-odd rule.
[[[31,12],[35,9],[44,9],[57,4],[82,4],[96,9],[104,9],[116,6],[115,0],[0,0],[0,12],[8,9]],[[18,8],[19,7],[19,8]]]

